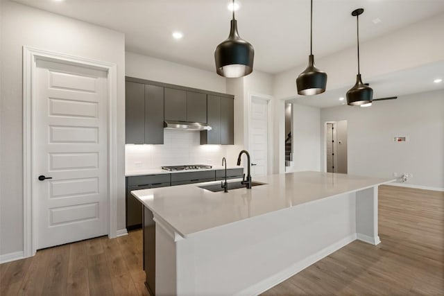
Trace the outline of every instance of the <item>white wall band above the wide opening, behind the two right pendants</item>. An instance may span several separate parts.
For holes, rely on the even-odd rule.
[[[444,60],[444,15],[430,17],[398,31],[361,42],[361,73],[364,80]],[[316,58],[316,66],[328,73],[327,88],[353,85],[357,73],[355,46],[324,58]],[[302,64],[275,76],[273,96],[295,98],[295,79],[304,71]]]

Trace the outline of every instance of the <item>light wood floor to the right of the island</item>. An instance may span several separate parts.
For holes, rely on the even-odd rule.
[[[361,241],[262,295],[444,295],[444,192],[379,187],[377,246]]]

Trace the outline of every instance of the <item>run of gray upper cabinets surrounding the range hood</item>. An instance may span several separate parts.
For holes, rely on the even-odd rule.
[[[200,144],[234,143],[234,97],[126,77],[126,143],[163,144],[164,121],[207,123]]]

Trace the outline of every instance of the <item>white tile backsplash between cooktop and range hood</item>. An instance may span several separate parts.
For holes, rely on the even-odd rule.
[[[200,132],[195,130],[164,130],[163,145],[125,146],[126,171],[182,164],[220,166],[222,157],[226,157],[232,147],[200,145]]]

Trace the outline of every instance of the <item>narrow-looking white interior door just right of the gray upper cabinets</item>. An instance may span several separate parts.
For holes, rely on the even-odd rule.
[[[268,172],[268,101],[253,98],[250,122],[251,175],[262,176]]]

